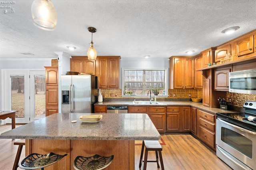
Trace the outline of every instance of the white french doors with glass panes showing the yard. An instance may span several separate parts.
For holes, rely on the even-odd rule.
[[[2,110],[16,110],[16,123],[45,117],[45,71],[6,69],[3,73]]]

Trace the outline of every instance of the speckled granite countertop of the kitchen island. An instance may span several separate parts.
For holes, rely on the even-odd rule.
[[[0,139],[159,140],[160,134],[147,114],[102,114],[97,123],[82,123],[81,115],[55,113],[0,135]],[[77,120],[76,123],[71,121]]]

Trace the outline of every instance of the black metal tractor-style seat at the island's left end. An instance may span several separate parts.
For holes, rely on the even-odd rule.
[[[21,169],[26,169],[26,170],[34,170],[34,169],[44,170],[44,167],[55,164],[56,162],[61,160],[64,156],[67,156],[67,154],[60,155],[60,154],[55,154],[53,152],[50,152],[48,154],[32,153],[26,156],[26,158],[24,158],[20,162],[19,167]]]

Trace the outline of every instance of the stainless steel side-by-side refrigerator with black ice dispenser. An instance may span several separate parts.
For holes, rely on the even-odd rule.
[[[93,75],[61,75],[61,113],[94,113],[97,84]]]

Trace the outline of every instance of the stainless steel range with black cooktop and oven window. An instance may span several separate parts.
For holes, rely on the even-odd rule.
[[[233,169],[256,170],[256,102],[244,113],[217,113],[216,155]]]

